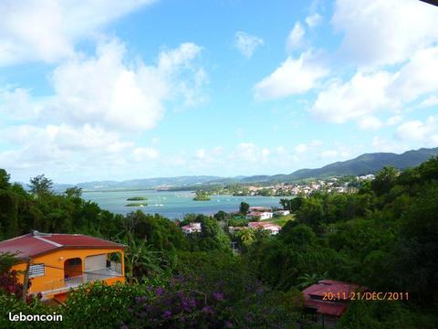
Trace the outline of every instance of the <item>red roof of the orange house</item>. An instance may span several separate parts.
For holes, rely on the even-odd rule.
[[[17,253],[26,259],[57,249],[123,249],[124,245],[82,234],[32,233],[0,242],[0,253]]]

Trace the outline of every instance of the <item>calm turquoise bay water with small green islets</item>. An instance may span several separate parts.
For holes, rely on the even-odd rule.
[[[146,207],[125,207],[127,198],[145,196]],[[196,213],[212,215],[219,210],[232,212],[239,209],[241,202],[250,206],[280,207],[277,196],[212,196],[210,201],[193,201],[192,192],[170,191],[93,191],[83,192],[82,197],[98,203],[99,207],[117,214],[127,214],[141,209],[145,213],[160,214],[166,218],[182,218],[184,214]]]

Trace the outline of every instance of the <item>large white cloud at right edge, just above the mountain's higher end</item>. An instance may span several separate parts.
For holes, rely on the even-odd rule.
[[[429,95],[438,91],[437,76],[438,47],[419,49],[399,70],[358,70],[347,82],[329,81],[310,111],[323,121],[354,119],[361,129],[378,129],[382,126],[378,114],[384,111],[400,110],[424,97],[433,105]]]

